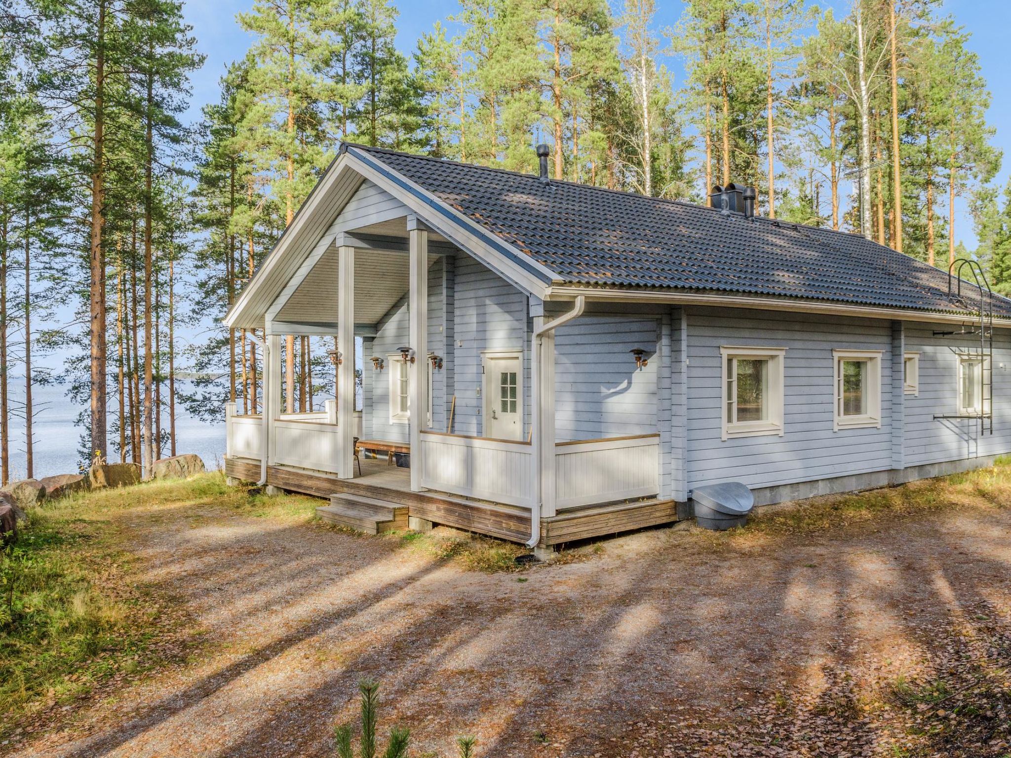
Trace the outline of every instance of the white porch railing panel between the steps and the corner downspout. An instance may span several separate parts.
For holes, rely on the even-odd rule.
[[[422,448],[423,487],[507,505],[533,503],[530,445],[423,432]]]

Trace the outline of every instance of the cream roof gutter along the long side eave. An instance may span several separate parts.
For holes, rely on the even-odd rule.
[[[751,295],[725,295],[694,292],[656,292],[649,290],[604,289],[596,287],[554,286],[549,288],[546,299],[561,300],[578,296],[588,297],[594,302],[638,302],[671,305],[718,305],[730,308],[756,308],[758,310],[788,310],[801,313],[823,313],[826,315],[864,316],[888,318],[900,321],[952,321],[962,323],[979,318],[973,313],[938,313],[927,310],[905,308],[885,308],[874,305],[832,303],[824,301],[800,300],[794,298],[760,297]],[[994,317],[994,325],[1011,328],[1011,318]]]

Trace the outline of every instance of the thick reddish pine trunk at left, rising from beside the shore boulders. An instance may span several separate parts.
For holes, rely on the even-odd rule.
[[[98,0],[95,44],[95,111],[91,169],[91,247],[89,302],[91,309],[91,457],[104,457],[107,450],[105,396],[105,255],[102,226],[105,223],[105,5]]]

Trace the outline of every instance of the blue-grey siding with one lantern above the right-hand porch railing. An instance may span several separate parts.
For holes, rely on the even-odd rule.
[[[658,431],[655,318],[584,315],[555,331],[555,439]],[[633,348],[646,351],[637,369]]]

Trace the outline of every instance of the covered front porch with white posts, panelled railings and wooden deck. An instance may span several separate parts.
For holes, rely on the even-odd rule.
[[[582,384],[604,381],[596,364],[617,372],[607,391],[619,402],[650,382],[659,398],[669,323],[664,331],[659,317],[644,316],[656,325],[639,353],[655,368],[633,376],[646,361],[640,367],[624,342],[600,355],[584,344],[599,338],[577,328],[583,298],[546,303],[524,292],[402,206],[376,208],[385,202],[378,189],[366,183],[260,305],[264,412],[229,404],[227,476],[330,498],[325,518],[387,504],[391,523],[532,547],[674,520],[662,414],[622,418],[581,400]],[[569,343],[561,364],[556,334],[569,335],[558,338]],[[335,397],[321,408],[282,412],[289,336],[336,340]],[[617,420],[602,422],[609,413]],[[669,424],[666,434],[669,444]],[[387,462],[390,449],[399,465]]]

